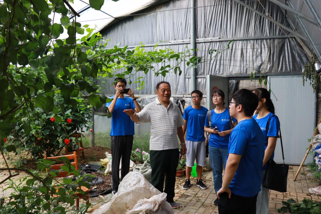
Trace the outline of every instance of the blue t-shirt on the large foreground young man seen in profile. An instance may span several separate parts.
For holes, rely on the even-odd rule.
[[[229,154],[241,155],[230,190],[253,197],[261,191],[264,136],[254,119],[242,120],[230,134]]]

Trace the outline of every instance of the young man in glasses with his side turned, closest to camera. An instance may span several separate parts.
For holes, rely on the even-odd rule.
[[[229,140],[222,188],[217,192],[220,214],[256,213],[256,197],[261,191],[264,136],[251,117],[258,98],[247,89],[234,93],[230,115],[238,120]]]

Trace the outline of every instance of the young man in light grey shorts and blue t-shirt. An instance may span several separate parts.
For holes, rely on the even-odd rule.
[[[185,124],[183,125],[183,132],[186,134],[186,181],[183,186],[184,190],[188,190],[191,181],[192,166],[194,166],[194,161],[196,159],[196,173],[197,180],[196,186],[201,189],[207,189],[207,186],[202,181],[203,166],[205,163],[205,136],[203,125],[205,123],[205,116],[207,113],[207,108],[201,106],[201,101],[203,99],[203,93],[199,90],[194,90],[191,93],[193,105],[188,106],[183,114],[183,119]]]

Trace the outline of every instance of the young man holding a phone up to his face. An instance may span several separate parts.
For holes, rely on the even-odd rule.
[[[134,139],[134,122],[124,113],[125,109],[132,109],[136,112],[141,111],[140,105],[134,97],[133,91],[129,88],[127,93],[129,97],[125,97],[122,93],[126,88],[126,80],[122,78],[115,79],[114,88],[116,94],[112,97],[111,102],[106,103],[106,107],[110,111],[111,130],[110,130],[110,146],[111,146],[111,174],[112,174],[112,193],[116,194],[119,185],[119,165],[122,160],[121,178],[123,179],[129,172],[130,155],[133,147]]]

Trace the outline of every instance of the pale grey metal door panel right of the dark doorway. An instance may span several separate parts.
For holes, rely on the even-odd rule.
[[[316,94],[309,82],[303,86],[302,76],[270,76],[269,86],[275,114],[281,123],[285,162],[299,165],[307,152],[308,138],[312,137],[316,124]],[[312,156],[308,156],[305,164],[312,159]],[[283,162],[280,139],[277,140],[274,160]]]

